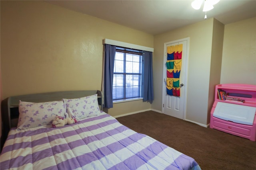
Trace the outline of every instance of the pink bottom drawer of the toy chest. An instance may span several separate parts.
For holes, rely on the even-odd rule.
[[[226,131],[235,132],[235,133],[239,133],[239,134],[246,135],[246,136],[251,135],[251,130],[250,129],[244,129],[242,127],[228,125],[226,123],[221,123],[221,122],[218,122],[218,121],[213,121],[213,122],[214,122],[215,127],[225,129]]]

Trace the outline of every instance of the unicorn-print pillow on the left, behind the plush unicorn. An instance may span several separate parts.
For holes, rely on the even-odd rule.
[[[66,107],[63,101],[44,103],[22,102],[19,104],[19,120],[17,130],[51,125],[54,117],[66,117]]]

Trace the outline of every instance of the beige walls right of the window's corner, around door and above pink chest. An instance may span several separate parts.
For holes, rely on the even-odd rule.
[[[162,66],[165,42],[190,37],[186,119],[208,125],[214,86],[256,85],[256,18],[223,25],[210,19],[154,36],[152,109],[162,108]],[[159,76],[161,75],[161,76]],[[196,100],[195,100],[196,98]]]

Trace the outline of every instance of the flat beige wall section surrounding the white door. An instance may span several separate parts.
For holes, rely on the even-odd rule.
[[[214,19],[154,36],[154,96],[152,109],[162,110],[164,43],[190,37],[188,55],[187,106],[185,119],[203,125],[207,123],[208,90],[212,54]]]

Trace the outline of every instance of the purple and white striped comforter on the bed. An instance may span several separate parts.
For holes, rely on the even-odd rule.
[[[1,170],[200,170],[197,162],[102,113],[60,128],[12,129]]]

